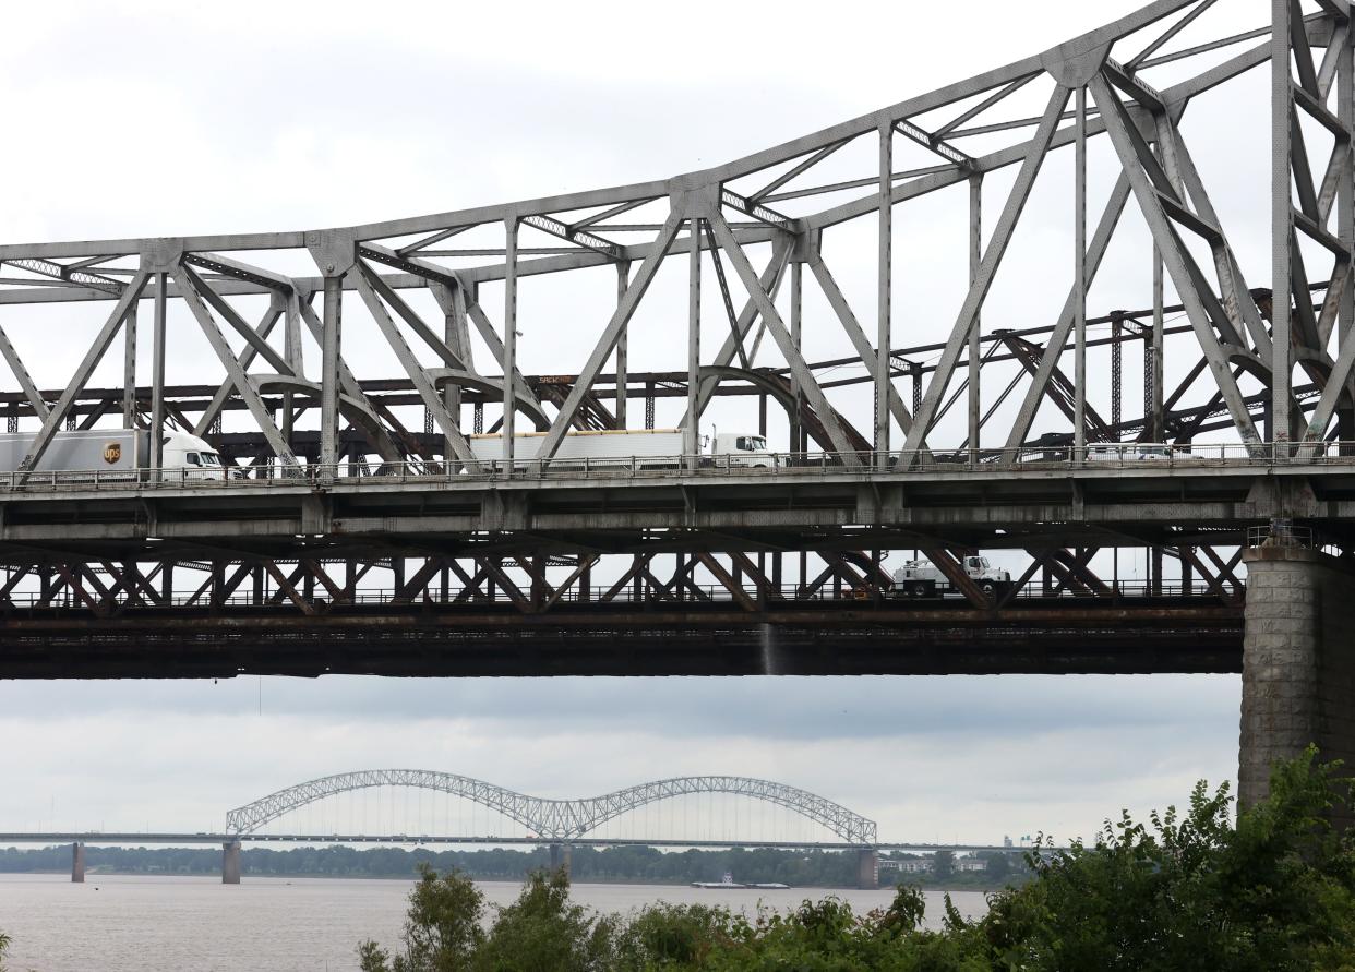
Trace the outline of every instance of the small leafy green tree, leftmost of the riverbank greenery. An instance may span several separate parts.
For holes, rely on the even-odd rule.
[[[485,897],[459,870],[438,877],[419,865],[419,883],[409,892],[405,953],[392,957],[373,941],[358,946],[362,972],[459,972],[472,968],[484,942]]]

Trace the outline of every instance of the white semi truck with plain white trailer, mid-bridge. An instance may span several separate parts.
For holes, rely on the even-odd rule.
[[[545,432],[514,435],[514,468],[534,462]],[[776,455],[767,451],[763,435],[720,432],[702,437],[710,446],[701,457],[703,466],[774,468]],[[470,451],[486,465],[503,464],[501,435],[472,435]],[[618,428],[604,431],[570,431],[560,441],[549,469],[676,469],[682,465],[683,432],[679,428]]]

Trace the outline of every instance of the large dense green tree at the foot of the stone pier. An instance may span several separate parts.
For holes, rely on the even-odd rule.
[[[1313,748],[1278,765],[1236,826],[1228,785],[1201,782],[1182,816],[1125,813],[1092,847],[1037,847],[1035,880],[993,896],[976,927],[996,963],[1028,969],[1355,968],[1355,843],[1328,823],[1350,800],[1336,770]]]

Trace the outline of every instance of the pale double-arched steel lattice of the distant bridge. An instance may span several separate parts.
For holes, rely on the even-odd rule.
[[[766,800],[791,809],[822,824],[848,843],[870,847],[875,845],[875,822],[846,807],[835,804],[808,790],[801,790],[770,779],[748,777],[675,777],[638,786],[627,786],[612,793],[580,800],[547,800],[515,793],[482,779],[432,770],[360,770],[310,779],[295,786],[270,793],[251,804],[226,813],[226,831],[253,834],[270,820],[283,813],[324,800],[336,793],[370,789],[374,786],[409,786],[436,790],[473,800],[523,824],[537,836],[551,841],[581,838],[612,817],[627,813],[656,800],[691,793],[728,793]]]

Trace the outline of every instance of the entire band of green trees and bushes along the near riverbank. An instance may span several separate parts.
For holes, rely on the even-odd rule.
[[[1327,823],[1351,797],[1336,769],[1313,750],[1278,765],[1270,798],[1236,824],[1229,788],[1201,782],[1183,813],[1122,813],[1065,851],[1041,841],[1026,855],[1034,880],[991,895],[976,920],[947,897],[935,929],[915,887],[864,915],[825,897],[787,914],[657,904],[618,918],[573,904],[564,873],[538,872],[481,931],[469,880],[425,870],[405,953],[364,942],[359,958],[363,972],[1355,972],[1355,839]]]

